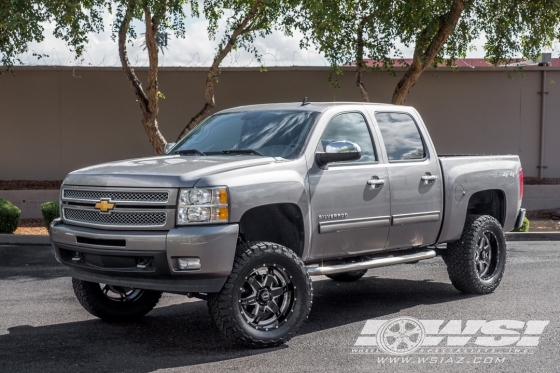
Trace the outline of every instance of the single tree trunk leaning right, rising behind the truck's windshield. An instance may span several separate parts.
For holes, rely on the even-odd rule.
[[[253,20],[259,11],[259,7],[263,0],[256,0],[253,5],[251,6],[251,10],[245,18],[237,25],[237,27],[233,30],[233,33],[228,39],[227,44],[224,48],[220,48],[216,57],[214,57],[214,61],[212,62],[212,66],[208,70],[208,74],[206,75],[206,90],[205,90],[205,98],[206,103],[194,117],[191,118],[189,123],[185,126],[185,128],[181,131],[179,136],[177,137],[177,141],[181,140],[187,133],[189,133],[194,127],[196,127],[200,122],[206,119],[212,109],[216,106],[216,102],[214,100],[214,82],[220,75],[220,64],[224,60],[224,58],[229,54],[235,43],[237,42],[237,38],[240,35],[245,33],[251,32],[251,26],[247,26],[251,20]]]

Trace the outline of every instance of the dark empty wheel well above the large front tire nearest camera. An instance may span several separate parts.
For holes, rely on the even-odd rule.
[[[303,216],[293,203],[254,207],[239,221],[239,233],[245,241],[269,241],[303,255],[305,232]]]

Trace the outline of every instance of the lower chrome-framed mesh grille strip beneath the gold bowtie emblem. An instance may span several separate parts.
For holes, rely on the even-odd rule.
[[[80,223],[110,226],[163,226],[165,212],[111,212],[103,214],[92,210],[64,208],[64,219]]]

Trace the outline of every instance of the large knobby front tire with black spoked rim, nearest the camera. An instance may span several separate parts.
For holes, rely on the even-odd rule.
[[[242,306],[242,299],[245,299],[242,295],[246,291],[243,289],[247,289],[248,281],[252,281],[255,271],[260,268],[283,270],[282,273],[287,273],[286,278],[289,277],[290,281],[290,285],[285,288],[292,289],[287,315],[282,316],[283,321],[278,318],[278,326],[266,330],[259,327],[258,321],[256,324],[248,321],[249,313]],[[282,295],[280,299],[289,299],[284,296],[287,297]],[[208,309],[217,328],[226,338],[247,347],[265,348],[282,345],[297,333],[309,315],[312,299],[313,286],[309,274],[302,260],[292,250],[271,242],[249,242],[237,246],[233,269],[226,283],[218,293],[208,294]]]

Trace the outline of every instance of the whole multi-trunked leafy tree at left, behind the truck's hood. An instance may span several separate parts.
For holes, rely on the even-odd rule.
[[[103,30],[103,13],[115,13],[113,37],[117,39],[121,66],[131,84],[142,112],[142,125],[157,154],[163,154],[167,143],[159,129],[158,35],[171,30],[177,37],[185,37],[185,10],[199,16],[197,0],[6,0],[0,2],[0,52],[7,70],[22,64],[19,55],[28,52],[28,44],[43,40],[42,22],[55,22],[55,36],[67,42],[79,58],[88,42],[88,33]],[[252,52],[258,61],[260,55],[253,42],[258,36],[270,34],[276,21],[285,11],[280,0],[206,0],[204,16],[209,21],[208,33],[214,38],[219,23],[225,17],[224,36],[208,70],[205,85],[206,103],[185,126],[179,139],[211,114],[215,107],[214,84],[220,75],[224,58],[235,49]],[[136,75],[128,58],[127,43],[136,39],[134,20],[145,25],[144,46],[148,52],[146,88]],[[163,50],[162,50],[163,53]],[[40,54],[36,54],[39,58]]]

